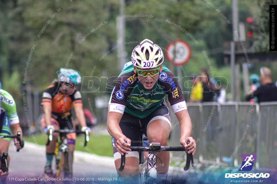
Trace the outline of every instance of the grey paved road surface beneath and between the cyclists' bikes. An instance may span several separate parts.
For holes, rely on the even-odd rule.
[[[117,178],[116,169],[114,166],[114,160],[110,157],[103,157],[84,153],[80,151],[74,152],[74,165],[73,165],[73,176],[75,178]],[[15,178],[39,178],[43,175],[43,168],[45,165],[45,146],[39,146],[31,143],[25,143],[24,149],[20,152],[15,151],[14,145],[10,145],[9,155],[11,157],[9,165],[9,175],[6,179],[8,184],[29,184],[29,183],[45,183],[42,181],[17,181]],[[184,175],[186,172],[182,168],[170,169],[169,181],[172,181],[172,176],[178,176],[179,181],[184,182]],[[14,178],[12,180],[12,178]],[[46,182],[49,183],[49,182]],[[60,183],[60,182],[56,182]],[[71,184],[75,183],[95,183],[92,181],[72,181]],[[96,183],[117,183],[108,181],[97,181]],[[1,182],[0,182],[1,184]]]

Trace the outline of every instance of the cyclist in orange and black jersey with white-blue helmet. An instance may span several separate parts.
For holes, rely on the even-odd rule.
[[[49,129],[69,129],[75,127],[71,120],[71,108],[74,106],[76,117],[82,126],[82,131],[86,129],[86,119],[82,108],[81,93],[76,90],[81,83],[81,76],[78,71],[61,68],[59,71],[59,81],[54,80],[53,85],[49,86],[42,94],[42,105],[44,115],[41,119],[42,127],[49,134]],[[53,140],[46,146],[46,166],[44,169],[46,177],[53,177],[52,160],[55,151],[55,145],[59,133],[53,133]],[[67,134],[68,147],[73,153],[75,148],[76,134]],[[65,168],[65,173],[66,168]]]

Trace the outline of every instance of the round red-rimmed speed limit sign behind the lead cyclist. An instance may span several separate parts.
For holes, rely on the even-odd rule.
[[[167,59],[174,65],[184,65],[189,61],[191,50],[189,44],[183,40],[177,40],[167,45]],[[174,57],[175,56],[175,57]]]

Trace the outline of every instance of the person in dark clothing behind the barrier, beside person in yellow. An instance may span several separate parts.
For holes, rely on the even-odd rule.
[[[219,88],[210,80],[209,73],[206,69],[201,70],[200,75],[203,84],[202,102],[216,101],[220,93]]]

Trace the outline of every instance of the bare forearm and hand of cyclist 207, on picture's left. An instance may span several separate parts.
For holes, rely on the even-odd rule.
[[[116,140],[116,150],[123,155],[124,153],[128,154],[128,151],[131,151],[131,149],[128,148],[131,145],[131,140],[121,131],[119,126],[121,118],[121,113],[109,112],[107,129],[109,134]],[[127,141],[127,143],[125,141]]]

